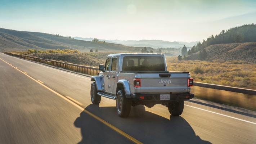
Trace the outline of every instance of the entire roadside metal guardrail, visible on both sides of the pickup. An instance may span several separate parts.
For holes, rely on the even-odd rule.
[[[5,54],[13,55],[13,56],[19,57],[19,58],[34,60],[36,62],[51,64],[53,66],[70,69],[72,71],[85,73],[88,75],[97,75],[100,72],[99,69],[95,68],[95,67],[86,67],[86,66],[81,66],[81,65],[77,65],[77,64],[70,64],[70,63],[58,62],[55,60],[28,57],[25,55],[12,54],[12,53],[8,53],[8,52],[5,52]],[[236,92],[236,93],[243,93],[243,94],[249,94],[249,95],[256,95],[256,90],[243,89],[243,88],[238,88],[238,87],[206,84],[206,83],[201,83],[201,82],[194,82],[194,86],[206,87],[206,88],[210,88],[210,89],[217,89],[217,90],[224,90],[224,91],[232,91],[232,92]]]

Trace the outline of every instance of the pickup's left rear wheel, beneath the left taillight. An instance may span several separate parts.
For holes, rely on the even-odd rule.
[[[128,117],[131,110],[131,99],[127,99],[123,90],[116,95],[116,111],[119,117]]]

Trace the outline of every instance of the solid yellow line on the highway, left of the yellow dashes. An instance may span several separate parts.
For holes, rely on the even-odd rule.
[[[4,60],[3,60],[4,61]],[[4,61],[5,62],[5,61]],[[7,63],[7,62],[5,62]],[[9,63],[7,63],[9,64]],[[10,66],[12,66],[11,64],[9,64]],[[14,66],[12,66],[13,68],[15,68]],[[111,129],[113,129],[114,131],[118,132],[119,134],[123,135],[124,137],[126,137],[127,139],[133,141],[134,143],[136,144],[142,144],[142,142],[136,140],[135,138],[133,138],[132,136],[126,134],[124,131],[118,129],[117,127],[111,125],[110,123],[108,123],[107,121],[103,120],[102,118],[96,116],[95,114],[87,111],[85,108],[81,107],[80,105],[76,104],[75,102],[73,102],[71,99],[68,99],[67,97],[57,93],[56,91],[50,89],[48,86],[42,84],[41,82],[39,82],[39,80],[36,80],[35,78],[27,75],[27,73],[25,72],[22,72],[21,70],[19,70],[18,68],[15,68],[17,69],[18,71],[20,71],[21,73],[23,73],[24,75],[26,75],[27,77],[31,78],[33,81],[37,82],[38,84],[42,85],[43,87],[45,87],[46,89],[50,90],[51,92],[53,92],[54,94],[58,95],[59,97],[63,98],[64,100],[66,100],[67,102],[71,103],[72,105],[74,105],[75,107],[81,109],[82,111],[84,111],[85,113],[89,114],[90,116],[94,117],[96,120],[104,123],[105,125],[107,125],[108,127],[110,127]],[[70,97],[69,97],[70,98]]]

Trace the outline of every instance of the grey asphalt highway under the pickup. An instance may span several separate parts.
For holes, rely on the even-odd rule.
[[[192,99],[178,117],[139,105],[120,118],[115,100],[91,104],[90,86],[90,76],[0,53],[0,143],[256,143],[254,111]]]

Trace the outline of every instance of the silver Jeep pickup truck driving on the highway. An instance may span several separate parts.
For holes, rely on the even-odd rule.
[[[120,117],[129,116],[131,106],[139,104],[149,108],[162,104],[179,116],[184,100],[194,97],[190,73],[167,71],[164,54],[111,54],[99,70],[98,76],[91,77],[91,102],[99,104],[101,96],[116,99]]]

